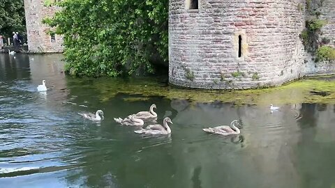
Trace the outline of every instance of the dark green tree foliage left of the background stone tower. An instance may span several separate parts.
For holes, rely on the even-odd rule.
[[[12,37],[13,31],[26,36],[26,20],[23,0],[0,1],[0,35]]]

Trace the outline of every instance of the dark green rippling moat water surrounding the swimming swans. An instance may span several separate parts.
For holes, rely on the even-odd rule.
[[[108,93],[130,81],[66,77],[60,60],[0,54],[0,187],[335,187],[334,104],[271,113],[268,105],[127,100],[141,96]],[[43,79],[46,95],[36,92]],[[113,120],[152,103],[159,122],[172,119],[171,136],[143,137]],[[97,109],[101,123],[77,115]],[[239,136],[202,132],[234,119]]]

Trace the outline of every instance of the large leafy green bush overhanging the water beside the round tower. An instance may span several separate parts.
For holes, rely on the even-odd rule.
[[[168,62],[168,0],[65,0],[43,22],[64,36],[66,72],[117,77]]]

